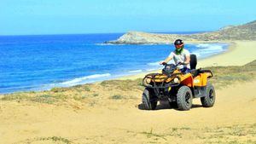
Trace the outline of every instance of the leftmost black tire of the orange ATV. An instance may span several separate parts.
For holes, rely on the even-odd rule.
[[[143,105],[147,110],[154,110],[157,105],[157,100],[152,93],[152,89],[148,88],[143,91]]]

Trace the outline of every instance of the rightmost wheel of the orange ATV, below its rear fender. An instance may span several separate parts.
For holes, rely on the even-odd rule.
[[[201,104],[203,107],[212,107],[215,102],[215,90],[212,84],[207,84],[207,96],[201,97]]]

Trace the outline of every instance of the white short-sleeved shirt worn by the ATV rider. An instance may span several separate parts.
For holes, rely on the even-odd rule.
[[[181,52],[180,55],[177,55],[176,52],[175,52],[175,50],[174,50],[174,51],[172,51],[172,52],[170,53],[170,55],[169,55],[168,57],[171,57],[171,58],[174,60],[175,64],[177,65],[178,62],[185,62],[185,61],[187,60],[187,57],[186,57],[186,56],[189,56],[189,55],[190,55],[189,50],[183,49],[183,51]],[[177,68],[179,68],[179,69],[182,69],[183,67],[188,67],[188,68],[190,68],[189,64],[188,64],[188,65],[180,65],[180,66],[177,66]]]

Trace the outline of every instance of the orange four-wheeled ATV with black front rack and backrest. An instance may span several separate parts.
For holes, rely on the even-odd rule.
[[[149,73],[143,78],[143,105],[154,110],[158,101],[169,101],[177,109],[186,111],[192,107],[193,98],[201,98],[203,107],[212,107],[215,102],[215,90],[208,78],[210,70],[195,69],[196,55],[190,55],[191,72],[183,73],[177,65],[165,64],[161,73]]]

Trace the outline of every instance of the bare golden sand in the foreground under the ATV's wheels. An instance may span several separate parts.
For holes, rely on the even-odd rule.
[[[187,112],[168,106],[141,110],[140,95],[90,109],[1,101],[0,143],[255,142],[255,84],[217,90],[214,107],[201,107],[196,100]]]

